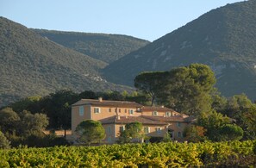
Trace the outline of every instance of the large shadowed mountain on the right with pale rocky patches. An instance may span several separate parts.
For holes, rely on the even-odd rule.
[[[214,70],[223,95],[244,92],[256,99],[255,11],[255,0],[213,9],[118,59],[103,72],[114,83],[133,85],[140,72],[203,63]]]

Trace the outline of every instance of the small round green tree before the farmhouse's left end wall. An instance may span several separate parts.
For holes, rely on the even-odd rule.
[[[100,143],[106,136],[101,122],[93,120],[85,120],[79,123],[76,133],[78,134],[78,141],[88,146],[91,143]]]

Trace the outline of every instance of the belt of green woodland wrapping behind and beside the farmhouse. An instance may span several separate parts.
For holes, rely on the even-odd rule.
[[[72,103],[81,98],[102,96],[105,100],[165,105],[195,117],[197,121],[184,132],[189,141],[254,140],[256,104],[245,94],[221,96],[214,84],[214,73],[207,65],[193,64],[170,72],[142,72],[134,79],[138,91],[133,93],[85,90],[78,94],[59,90],[48,96],[32,96],[11,103],[0,111],[0,129],[12,146],[19,143],[43,146],[43,143],[29,144],[29,139],[45,138],[41,134],[41,129],[45,128],[70,129]]]

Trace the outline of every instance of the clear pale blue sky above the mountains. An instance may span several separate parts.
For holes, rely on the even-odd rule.
[[[241,0],[0,0],[0,16],[28,28],[156,40],[210,9]]]

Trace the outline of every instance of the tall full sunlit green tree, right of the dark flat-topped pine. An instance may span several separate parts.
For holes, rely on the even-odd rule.
[[[162,81],[165,86],[158,92],[159,102],[187,115],[210,111],[215,81],[208,65],[192,64],[172,69]]]

